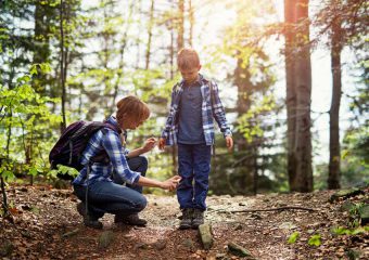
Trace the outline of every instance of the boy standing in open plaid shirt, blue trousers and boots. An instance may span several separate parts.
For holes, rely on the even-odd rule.
[[[211,154],[214,144],[214,120],[226,138],[227,147],[233,146],[218,87],[199,74],[198,53],[182,49],[177,57],[182,80],[171,92],[170,112],[158,142],[178,144],[178,172],[181,177],[177,198],[182,210],[179,229],[196,229],[204,223],[205,199],[208,190]],[[192,181],[194,180],[194,185]]]

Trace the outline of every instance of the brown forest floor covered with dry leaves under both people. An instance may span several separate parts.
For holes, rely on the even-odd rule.
[[[351,197],[368,203],[365,194]],[[334,235],[334,226],[347,226],[349,213],[343,199],[329,203],[333,192],[209,196],[206,222],[214,244],[204,250],[199,231],[178,230],[180,211],[175,196],[148,195],[140,214],[145,227],[116,225],[113,216],[102,218],[103,230],[85,227],[76,211],[72,190],[48,186],[10,186],[12,218],[0,217],[0,257],[3,259],[241,259],[228,251],[230,242],[249,250],[254,259],[369,259],[368,231]],[[305,207],[307,210],[230,212],[244,209]],[[293,244],[293,232],[300,236]],[[308,244],[320,235],[321,245]],[[247,258],[245,258],[247,259]],[[251,259],[251,258],[249,258]]]

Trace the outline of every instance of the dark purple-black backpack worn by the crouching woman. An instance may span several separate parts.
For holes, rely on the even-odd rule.
[[[100,129],[110,128],[120,134],[122,130],[109,122],[99,121],[75,121],[71,123],[62,133],[55,145],[49,154],[51,169],[56,169],[58,165],[75,168],[80,171],[84,165],[80,164],[81,154],[84,153],[88,141],[93,133]],[[91,158],[91,162],[110,161],[105,151]],[[73,180],[71,176],[58,174],[62,179]]]

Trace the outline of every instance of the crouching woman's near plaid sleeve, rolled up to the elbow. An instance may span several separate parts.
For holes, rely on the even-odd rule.
[[[129,169],[125,156],[126,151],[123,148],[119,135],[112,130],[107,130],[103,136],[102,146],[111,159],[116,178],[128,184],[137,183],[140,179],[140,173]]]

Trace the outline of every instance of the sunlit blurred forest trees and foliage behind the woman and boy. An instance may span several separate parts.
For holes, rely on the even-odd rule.
[[[102,120],[127,94],[152,109],[129,132],[129,147],[158,138],[180,79],[176,53],[192,46],[202,73],[220,87],[234,133],[231,154],[217,134],[211,193],[310,192],[368,180],[367,3],[281,3],[0,1],[2,179],[50,177],[48,153],[60,130]],[[319,50],[331,56],[329,112],[311,108],[320,80],[311,55]],[[329,125],[317,126],[325,115]],[[313,128],[329,133],[326,160]],[[175,147],[148,157],[151,177],[176,173]]]

